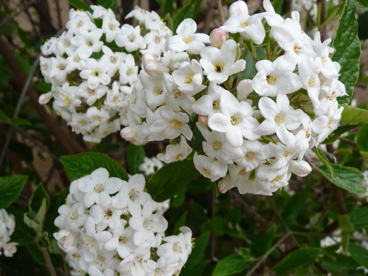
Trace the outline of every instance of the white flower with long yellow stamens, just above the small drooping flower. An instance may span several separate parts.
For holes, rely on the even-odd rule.
[[[160,119],[154,121],[148,128],[149,131],[159,134],[156,139],[174,139],[180,134],[183,134],[188,140],[192,139],[192,131],[186,124],[189,122],[189,117],[183,112],[174,113],[170,107],[161,106],[155,111],[159,113]],[[149,137],[151,139],[151,137]]]

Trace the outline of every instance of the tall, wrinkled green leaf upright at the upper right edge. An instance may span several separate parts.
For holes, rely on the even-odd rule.
[[[348,96],[339,97],[339,103],[350,102],[353,97],[354,82],[359,74],[360,43],[355,9],[354,0],[346,0],[336,36],[332,42],[335,52],[331,59],[341,66],[339,80],[345,85],[348,94]]]

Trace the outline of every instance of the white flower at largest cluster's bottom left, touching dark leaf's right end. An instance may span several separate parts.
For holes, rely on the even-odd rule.
[[[220,160],[212,160],[205,155],[198,155],[198,153],[195,152],[193,162],[199,173],[213,182],[220,177],[226,176],[227,164]]]

